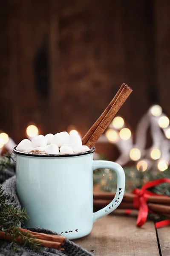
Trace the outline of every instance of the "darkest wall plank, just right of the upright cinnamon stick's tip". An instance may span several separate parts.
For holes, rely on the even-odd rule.
[[[133,89],[133,95],[119,113],[128,116],[127,122],[137,124],[139,118],[153,104],[149,88],[154,87],[153,15],[154,4],[150,0],[124,1],[122,29],[124,35],[124,64],[126,83]],[[145,17],[144,19],[142,17]],[[154,85],[153,85],[154,84]],[[130,114],[131,113],[131,114]]]

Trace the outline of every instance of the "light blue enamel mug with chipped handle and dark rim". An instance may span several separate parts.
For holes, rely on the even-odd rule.
[[[93,222],[114,211],[122,201],[125,175],[110,161],[93,161],[95,148],[69,155],[40,155],[17,151],[17,194],[30,219],[26,227],[41,227],[69,239],[88,235]],[[115,198],[93,213],[93,171],[112,169],[117,174]]]

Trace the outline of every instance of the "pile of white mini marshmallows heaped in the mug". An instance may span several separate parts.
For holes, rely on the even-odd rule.
[[[22,140],[16,148],[18,151],[32,153],[39,151],[38,154],[73,154],[89,151],[89,147],[82,145],[81,137],[78,134],[68,134],[62,131],[55,135],[46,134],[33,137],[32,141]]]

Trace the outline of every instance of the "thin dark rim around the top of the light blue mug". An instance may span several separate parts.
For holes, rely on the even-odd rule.
[[[27,156],[27,157],[78,157],[78,156],[83,156],[83,155],[86,155],[86,154],[92,154],[92,153],[95,152],[95,147],[93,146],[89,151],[75,153],[75,154],[56,154],[56,155],[53,155],[53,154],[48,154],[48,155],[42,154],[41,155],[41,154],[29,154],[29,153],[21,152],[21,151],[18,151],[16,149],[16,147],[13,148],[14,154],[23,155],[23,156]]]

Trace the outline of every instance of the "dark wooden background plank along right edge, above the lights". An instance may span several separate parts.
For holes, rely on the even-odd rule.
[[[170,116],[170,1],[155,1],[156,83],[161,106]]]

